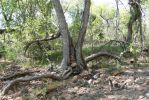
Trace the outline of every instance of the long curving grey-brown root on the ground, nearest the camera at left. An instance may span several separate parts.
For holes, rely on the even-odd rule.
[[[62,80],[62,77],[60,76],[56,76],[54,74],[51,73],[46,73],[46,74],[42,74],[42,75],[38,75],[38,76],[29,76],[29,77],[25,77],[25,78],[17,78],[14,79],[12,81],[10,81],[3,89],[3,91],[1,92],[1,95],[5,95],[8,93],[8,91],[17,83],[19,82],[27,82],[27,81],[32,81],[32,80],[37,80],[37,79],[42,79],[42,78],[51,78],[53,80]]]

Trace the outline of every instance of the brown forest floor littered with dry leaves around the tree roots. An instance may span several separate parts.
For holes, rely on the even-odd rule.
[[[0,71],[1,77],[24,72],[20,66]],[[46,73],[47,68],[30,68],[34,75]],[[54,73],[54,72],[53,72]],[[27,77],[27,76],[25,76]],[[0,81],[0,90],[10,80]],[[84,71],[67,80],[41,79],[16,84],[0,100],[149,100],[149,66],[125,67],[111,73],[107,68]]]

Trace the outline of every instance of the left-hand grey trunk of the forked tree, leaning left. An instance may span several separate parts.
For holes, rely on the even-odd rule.
[[[72,43],[70,38],[70,32],[68,30],[68,25],[66,23],[64,12],[60,4],[60,1],[59,0],[51,0],[51,1],[56,11],[58,25],[63,39],[63,60],[62,60],[61,66],[63,69],[67,69],[68,66],[70,65],[70,55],[71,55],[70,46]]]

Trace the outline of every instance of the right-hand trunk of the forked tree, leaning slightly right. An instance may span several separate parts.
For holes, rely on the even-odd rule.
[[[75,47],[76,48],[76,62],[81,69],[87,68],[86,62],[82,54],[82,47],[83,47],[83,42],[84,42],[88,20],[89,20],[89,15],[90,15],[90,5],[91,5],[91,1],[85,0],[84,12],[83,12],[82,21],[81,21],[81,29],[79,31],[79,36],[78,36],[78,40],[77,40],[76,47]]]

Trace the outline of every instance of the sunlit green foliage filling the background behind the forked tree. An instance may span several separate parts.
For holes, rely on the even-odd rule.
[[[148,6],[148,0],[142,2],[143,6]],[[83,0],[62,0],[61,3],[71,36],[76,42],[81,27]],[[7,29],[7,32],[0,37],[0,54],[5,54],[9,60],[14,60],[23,55],[24,47],[28,42],[50,38],[58,30],[56,15],[50,0],[1,0],[0,5],[3,15],[2,27]],[[111,39],[122,40],[123,36],[127,34],[129,11],[120,10],[118,17],[120,24],[118,34],[116,34],[116,9],[107,5],[91,5],[83,48],[85,56],[102,50],[114,54],[124,51],[122,46],[117,45],[117,43],[115,43],[116,45],[111,43],[101,46],[105,41]],[[16,31],[9,32],[8,30],[12,28]],[[134,30],[136,29],[134,28]],[[130,45],[129,49],[134,55],[138,55],[138,48]],[[50,42],[33,43],[28,48],[27,55],[32,62],[38,64],[58,63],[62,60],[61,38]]]

